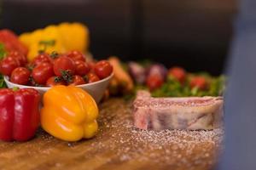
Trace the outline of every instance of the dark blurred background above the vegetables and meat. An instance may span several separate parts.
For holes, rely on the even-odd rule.
[[[218,75],[235,14],[235,0],[2,0],[1,28],[20,34],[80,21],[96,59],[153,59]]]

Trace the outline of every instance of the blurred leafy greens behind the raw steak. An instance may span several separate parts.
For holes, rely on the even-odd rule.
[[[152,65],[152,61],[145,59],[137,62],[139,65],[142,65],[144,68]],[[124,68],[127,68],[125,63],[123,64]],[[206,88],[194,86],[193,80],[195,77],[202,77],[206,83]],[[177,78],[169,74],[166,81],[162,84],[160,88],[155,89],[151,92],[153,97],[189,97],[189,96],[220,96],[224,94],[224,88],[226,83],[226,77],[221,75],[219,77],[212,77],[208,72],[202,71],[197,73],[187,73],[185,82],[179,82]],[[136,96],[137,90],[147,89],[146,84],[136,84],[133,92],[131,94],[126,94],[125,99],[132,99]]]

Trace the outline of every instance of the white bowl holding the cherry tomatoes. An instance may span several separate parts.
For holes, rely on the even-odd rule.
[[[76,87],[84,89],[86,92],[88,92],[93,97],[93,99],[96,100],[96,103],[99,103],[104,95],[106,88],[108,88],[108,84],[112,77],[113,77],[113,73],[109,77],[106,77],[98,82],[90,82],[87,84],[78,85]],[[24,86],[24,85],[16,84],[13,82],[9,82],[9,77],[3,77],[3,78],[4,78],[4,81],[6,82],[8,88],[15,88],[15,87],[34,88],[34,89],[38,90],[38,92],[42,95],[47,90],[49,90],[49,88],[47,88],[47,87],[44,88],[44,87]]]

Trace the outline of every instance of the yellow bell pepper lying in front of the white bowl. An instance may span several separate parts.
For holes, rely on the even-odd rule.
[[[41,126],[55,138],[66,141],[90,139],[96,135],[98,109],[83,89],[55,86],[44,94]]]

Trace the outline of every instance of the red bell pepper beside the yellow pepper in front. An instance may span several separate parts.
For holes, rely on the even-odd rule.
[[[31,139],[39,125],[40,94],[33,88],[0,89],[0,139]]]

